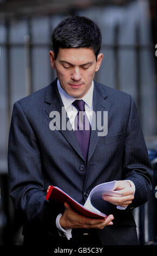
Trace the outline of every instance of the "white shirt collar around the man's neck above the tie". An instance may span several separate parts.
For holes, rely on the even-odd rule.
[[[58,87],[58,92],[60,93],[64,107],[68,108],[76,100],[75,97],[72,97],[66,93],[66,91],[61,87],[59,80],[57,80],[57,87]],[[82,100],[84,100],[84,102],[90,108],[92,108],[93,106],[93,90],[94,90],[94,82],[92,81],[91,87],[88,93],[82,97]]]

